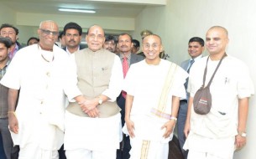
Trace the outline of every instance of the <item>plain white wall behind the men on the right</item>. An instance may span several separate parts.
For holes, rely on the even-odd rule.
[[[170,60],[180,64],[188,59],[187,43],[193,36],[205,38],[206,30],[221,25],[229,32],[227,49],[248,64],[256,85],[256,1],[253,0],[167,0],[166,7],[146,8],[135,20],[134,38],[149,28],[162,37],[165,52]],[[255,88],[255,86],[254,86]],[[254,159],[256,143],[255,96],[250,100],[248,115],[248,141],[243,150],[235,153],[235,159]]]

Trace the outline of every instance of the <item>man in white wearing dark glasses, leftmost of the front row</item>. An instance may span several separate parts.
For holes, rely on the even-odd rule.
[[[18,51],[1,84],[9,88],[8,124],[13,144],[20,147],[18,158],[59,159],[65,95],[78,102],[85,99],[76,87],[68,55],[55,45],[58,25],[50,20],[41,22],[38,34],[39,44]]]

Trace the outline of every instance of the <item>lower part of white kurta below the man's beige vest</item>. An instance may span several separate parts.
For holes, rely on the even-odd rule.
[[[79,149],[116,151],[119,148],[121,115],[90,118],[65,112],[66,153]]]

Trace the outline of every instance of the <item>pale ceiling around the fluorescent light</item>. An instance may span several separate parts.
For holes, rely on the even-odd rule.
[[[165,5],[166,0],[1,0],[18,13],[48,13],[97,17],[136,18],[147,6]],[[97,13],[64,13],[58,8],[93,9]]]

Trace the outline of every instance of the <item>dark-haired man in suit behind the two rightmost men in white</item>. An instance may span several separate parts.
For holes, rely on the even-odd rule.
[[[192,64],[194,64],[196,60],[201,59],[202,53],[205,49],[204,45],[205,45],[205,42],[202,38],[193,37],[189,40],[188,54],[191,56],[191,59],[187,59],[180,64],[181,68],[184,69],[188,74],[190,72]],[[186,82],[185,82],[185,90],[187,89],[187,83],[188,83],[188,79],[186,79]],[[177,121],[180,149],[185,159],[187,158],[187,151],[183,149],[183,145],[185,143],[184,127],[185,127],[187,103],[188,103],[189,97],[190,97],[189,93],[186,92],[186,99],[180,100],[180,109],[179,109],[178,121]]]

